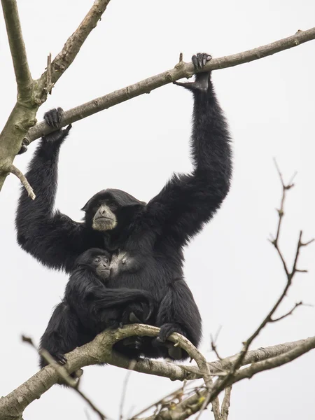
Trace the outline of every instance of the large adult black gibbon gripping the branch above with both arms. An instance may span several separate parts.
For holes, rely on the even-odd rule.
[[[202,70],[209,59],[210,55],[197,54],[193,64]],[[29,200],[22,190],[16,227],[18,243],[25,251],[44,265],[66,272],[71,272],[74,261],[87,248],[113,252],[109,287],[119,283],[119,287],[148,290],[158,302],[154,325],[160,327],[160,335],[155,344],[180,332],[197,346],[201,319],[183,279],[183,246],[211,220],[228,194],[230,134],[211,72],[197,73],[192,83],[176,84],[192,91],[194,97],[190,174],[174,174],[148,204],[121,190],[102,190],[83,207],[84,223],[76,223],[54,211],[59,148],[70,127],[57,130],[43,137],[31,160],[26,176],[36,200]],[[61,118],[61,109],[45,114],[46,123],[53,127],[58,127]],[[151,342],[146,344],[139,353],[160,356]],[[183,358],[186,354],[174,356],[169,351],[169,356]]]

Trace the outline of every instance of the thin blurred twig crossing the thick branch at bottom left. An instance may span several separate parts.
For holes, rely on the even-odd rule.
[[[25,335],[22,335],[22,341],[31,344],[31,346],[38,352],[38,354],[42,356],[49,365],[52,365],[52,367],[55,368],[59,377],[63,381],[65,381],[67,385],[74,389],[74,391],[76,391],[76,393],[78,393],[78,395],[80,395],[80,397],[83,398],[83,400],[85,400],[85,402],[87,402],[88,405],[90,405],[92,410],[98,414],[101,420],[107,419],[105,414],[99,411],[99,409],[93,404],[90,398],[87,398],[87,396],[82,391],[80,391],[80,389],[78,388],[78,381],[69,376],[69,373],[66,371],[66,368],[62,365],[59,365],[59,363],[56,362],[56,360],[50,355],[50,353],[48,353],[47,350],[37,349],[33,340],[30,337],[26,337]]]

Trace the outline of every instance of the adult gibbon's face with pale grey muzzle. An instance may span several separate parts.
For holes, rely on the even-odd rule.
[[[113,200],[99,200],[95,202],[92,207],[93,218],[92,218],[92,229],[99,230],[100,232],[106,232],[106,230],[112,230],[117,226],[116,211],[118,205]]]

